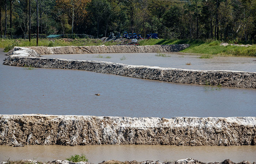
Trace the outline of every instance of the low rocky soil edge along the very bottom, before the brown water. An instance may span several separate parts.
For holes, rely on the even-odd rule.
[[[0,162],[0,164],[92,164],[89,162],[71,162],[67,160],[54,160],[52,162],[48,163],[43,163],[40,161],[35,161],[35,160],[22,160],[22,161],[10,161],[10,162]],[[159,162],[159,161],[116,161],[116,160],[111,160],[111,161],[103,161],[102,163],[99,164],[255,164],[255,162],[251,163],[249,161],[242,161],[239,163],[234,163],[233,161],[226,159],[223,162],[214,162],[214,163],[203,163],[201,161],[187,158],[187,159],[181,159],[177,161],[170,161],[170,162]]]

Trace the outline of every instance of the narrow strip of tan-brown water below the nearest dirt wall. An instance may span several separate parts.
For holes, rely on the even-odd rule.
[[[29,145],[25,147],[0,146],[0,161],[34,159],[39,161],[64,160],[71,155],[85,154],[91,163],[103,160],[174,161],[188,157],[202,162],[243,160],[256,161],[256,146],[170,146],[170,145]]]

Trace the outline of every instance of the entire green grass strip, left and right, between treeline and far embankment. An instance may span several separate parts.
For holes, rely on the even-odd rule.
[[[39,39],[38,46],[99,46],[103,43],[101,39]],[[103,43],[105,46],[116,45],[119,42],[110,41]],[[179,39],[148,39],[139,41],[141,46],[155,44],[190,44],[191,46],[181,52],[190,52],[210,55],[235,55],[235,56],[256,56],[256,44],[249,47],[220,46],[221,41],[212,40],[179,40]],[[14,46],[36,46],[36,40],[32,39],[0,39],[0,48],[8,52]]]

